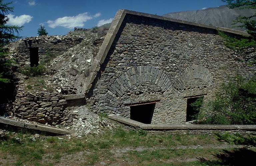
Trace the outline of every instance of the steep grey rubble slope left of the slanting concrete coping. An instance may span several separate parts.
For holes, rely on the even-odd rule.
[[[50,67],[56,71],[53,77],[46,81],[47,85],[53,89],[61,89],[64,95],[83,93],[83,84],[89,74],[91,61],[97,55],[103,40],[97,36],[90,36],[89,39],[55,58]]]

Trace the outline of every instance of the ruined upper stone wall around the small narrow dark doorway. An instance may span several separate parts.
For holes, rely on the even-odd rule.
[[[77,36],[37,36],[22,39],[14,44],[17,48],[10,55],[11,58],[22,67],[30,64],[30,47],[38,47],[39,64],[46,56],[56,57],[63,54],[68,49],[81,43],[83,39]]]

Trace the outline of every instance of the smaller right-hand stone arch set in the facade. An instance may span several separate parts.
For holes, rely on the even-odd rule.
[[[201,79],[209,86],[213,84],[213,75],[211,72],[204,66],[194,65],[183,70],[176,80],[175,88],[180,91],[193,79]]]

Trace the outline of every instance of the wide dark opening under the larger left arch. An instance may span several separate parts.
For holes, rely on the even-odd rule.
[[[130,107],[131,119],[141,123],[151,124],[155,106],[156,106],[156,103],[131,106]]]

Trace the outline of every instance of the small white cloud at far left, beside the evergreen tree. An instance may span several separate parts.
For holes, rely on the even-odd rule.
[[[33,16],[30,16],[30,15],[20,15],[20,16],[16,16],[14,17],[15,15],[13,14],[9,14],[7,15],[7,17],[9,18],[9,21],[7,22],[7,25],[17,25],[17,26],[22,26],[26,23],[29,23]]]

